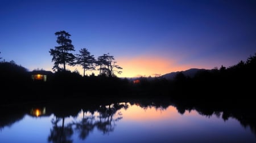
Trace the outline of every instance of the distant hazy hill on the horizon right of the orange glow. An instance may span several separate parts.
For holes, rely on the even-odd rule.
[[[177,72],[171,72],[171,73],[166,73],[165,75],[162,75],[161,77],[167,79],[167,80],[172,80],[174,79],[174,77],[177,75],[177,73],[182,72],[185,76],[189,76],[189,77],[194,77],[195,74],[198,71],[204,71],[205,69],[201,68],[191,68],[189,70],[186,71],[177,71]]]

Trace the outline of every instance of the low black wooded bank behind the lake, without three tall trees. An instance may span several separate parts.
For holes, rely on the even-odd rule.
[[[33,81],[31,72],[14,61],[0,62],[1,103],[47,101],[59,98],[160,97],[173,99],[253,100],[256,53],[231,67],[213,68],[194,77],[177,73],[174,79],[141,77],[138,83],[127,78],[101,75],[81,76],[76,71],[57,71],[48,80]]]

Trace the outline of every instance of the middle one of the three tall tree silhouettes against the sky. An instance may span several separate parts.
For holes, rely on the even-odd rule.
[[[80,54],[77,55],[77,64],[80,64],[84,69],[84,76],[85,70],[95,70],[95,58],[94,55],[91,55],[88,49],[83,48],[79,50]]]

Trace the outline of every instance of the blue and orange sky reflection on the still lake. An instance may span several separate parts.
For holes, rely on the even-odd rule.
[[[125,103],[123,103],[125,104]],[[81,110],[75,117],[64,118],[64,128],[71,127],[71,142],[256,142],[250,128],[233,118],[224,122],[220,114],[202,116],[197,111],[180,114],[176,107],[130,105],[111,114]],[[106,106],[109,107],[109,106]],[[108,108],[107,108],[108,109]],[[46,107],[47,111],[47,107]],[[83,118],[84,116],[84,118]],[[53,122],[59,119],[54,126]],[[53,127],[62,128],[63,118],[55,115],[23,119],[0,131],[0,142],[48,142]],[[82,122],[84,120],[84,122]],[[53,122],[52,122],[53,121]],[[84,123],[84,124],[82,124]],[[84,126],[82,126],[84,125]],[[82,136],[82,127],[84,136]],[[56,129],[56,128],[55,128]],[[56,131],[55,131],[56,132]],[[64,142],[51,140],[49,142]]]

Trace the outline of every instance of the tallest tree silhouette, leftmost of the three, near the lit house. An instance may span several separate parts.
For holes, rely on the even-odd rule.
[[[59,64],[63,64],[63,70],[66,71],[66,64],[69,66],[75,65],[75,55],[69,53],[69,51],[75,51],[75,47],[72,45],[72,40],[69,39],[71,34],[65,31],[55,32],[57,36],[57,44],[55,49],[50,49],[49,53],[52,56],[52,62],[54,61],[53,71],[60,71]]]

